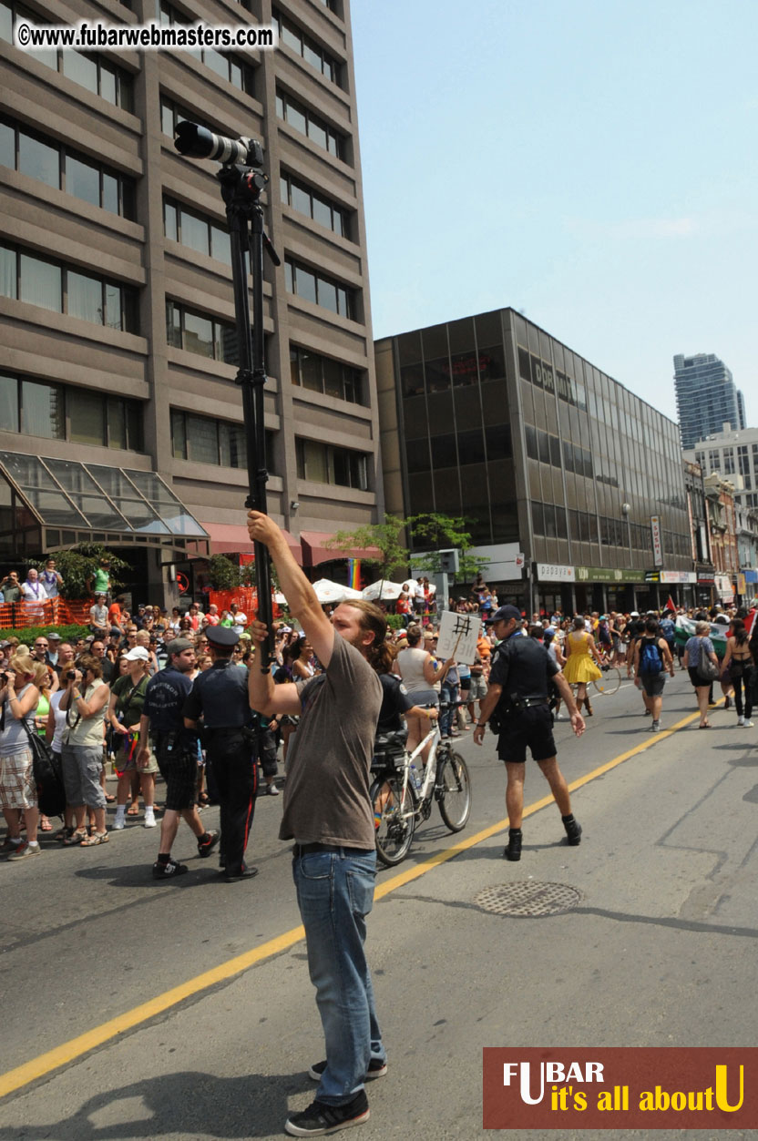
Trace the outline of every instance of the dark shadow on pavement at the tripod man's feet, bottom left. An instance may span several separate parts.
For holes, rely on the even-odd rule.
[[[275,1136],[283,1132],[288,1099],[306,1090],[315,1092],[316,1085],[305,1074],[233,1078],[197,1071],[167,1074],[95,1094],[54,1124],[0,1126],[0,1141]],[[132,1106],[123,1104],[129,1100]]]

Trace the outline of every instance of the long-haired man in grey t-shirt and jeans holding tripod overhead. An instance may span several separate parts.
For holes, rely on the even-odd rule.
[[[341,602],[330,623],[276,524],[250,511],[248,532],[268,548],[280,589],[324,670],[280,686],[258,663],[249,674],[253,709],[265,717],[301,714],[280,837],[295,840],[293,876],[326,1059],[309,1070],[318,1079],[315,1101],[284,1128],[312,1136],[366,1120],[364,1078],[386,1071],[364,941],[377,865],[370,767],[382,697],[371,662],[387,628],[381,612],[363,600]],[[255,624],[258,645],[266,633]]]

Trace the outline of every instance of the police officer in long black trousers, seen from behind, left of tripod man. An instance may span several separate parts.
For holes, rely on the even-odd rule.
[[[184,723],[197,728],[203,719],[205,754],[218,786],[221,818],[221,868],[229,883],[249,880],[257,867],[244,863],[258,791],[255,734],[250,731],[248,672],[232,661],[240,640],[236,630],[209,626],[210,670],[197,674],[184,705]]]

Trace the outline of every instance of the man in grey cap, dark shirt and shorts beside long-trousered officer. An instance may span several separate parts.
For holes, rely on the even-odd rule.
[[[197,735],[184,726],[184,704],[192,689],[195,652],[191,641],[177,638],[167,647],[169,664],[147,682],[139,719],[137,763],[148,762],[152,751],[166,780],[166,812],[161,822],[161,843],[153,864],[154,880],[176,879],[188,871],[171,858],[171,845],[185,820],[197,840],[197,853],[205,859],[218,843],[218,832],[207,832],[195,804],[197,783]]]

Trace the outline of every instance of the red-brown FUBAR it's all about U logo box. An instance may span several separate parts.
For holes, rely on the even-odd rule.
[[[758,1127],[758,1049],[485,1049],[484,1128]]]

